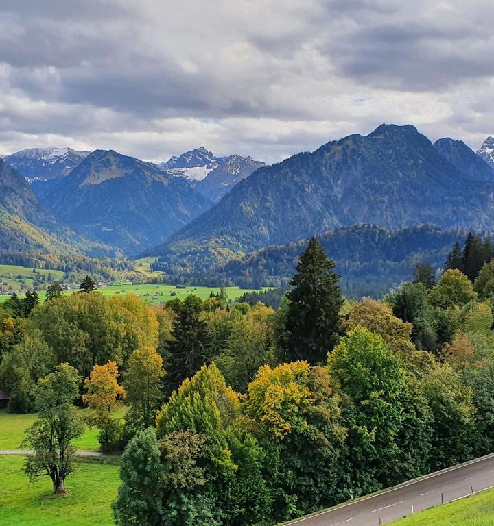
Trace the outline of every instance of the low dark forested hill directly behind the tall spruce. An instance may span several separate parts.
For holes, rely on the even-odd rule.
[[[428,262],[434,271],[443,268],[446,255],[467,231],[443,230],[425,225],[391,230],[375,225],[352,225],[316,236],[336,262],[346,297],[379,298],[412,277],[414,266]],[[233,258],[223,266],[209,265],[209,258],[193,264],[174,255],[158,258],[152,268],[168,273],[177,282],[209,286],[235,284],[245,288],[287,286],[307,240],[274,245]]]

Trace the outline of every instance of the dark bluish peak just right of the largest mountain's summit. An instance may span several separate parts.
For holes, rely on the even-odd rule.
[[[475,182],[494,182],[494,169],[462,140],[439,139],[434,142],[434,147],[465,178]]]

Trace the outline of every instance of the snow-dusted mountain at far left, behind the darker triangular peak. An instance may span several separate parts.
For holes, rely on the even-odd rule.
[[[4,160],[28,181],[47,181],[68,175],[89,151],[71,148],[30,148],[7,155]]]

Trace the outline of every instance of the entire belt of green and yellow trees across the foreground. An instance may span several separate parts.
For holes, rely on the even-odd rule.
[[[4,309],[0,386],[40,415],[26,471],[63,490],[81,405],[124,449],[119,525],[270,525],[489,453],[494,263],[471,277],[421,264],[344,301],[313,238],[277,310],[96,291]]]

